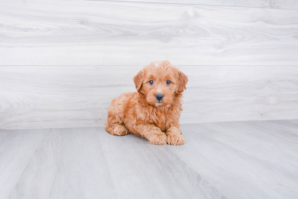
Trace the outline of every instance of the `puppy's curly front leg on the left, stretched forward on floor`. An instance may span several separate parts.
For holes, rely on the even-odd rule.
[[[146,138],[151,144],[165,145],[167,144],[167,136],[160,128],[153,124],[137,125],[134,128],[142,137]]]

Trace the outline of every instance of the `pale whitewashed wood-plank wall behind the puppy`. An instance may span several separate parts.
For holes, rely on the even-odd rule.
[[[152,2],[0,1],[0,129],[102,126],[166,59],[181,123],[298,119],[298,3]]]

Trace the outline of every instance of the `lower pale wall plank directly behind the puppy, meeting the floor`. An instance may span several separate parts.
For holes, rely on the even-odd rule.
[[[178,66],[180,123],[298,119],[298,67]],[[0,129],[103,126],[142,66],[0,67]]]

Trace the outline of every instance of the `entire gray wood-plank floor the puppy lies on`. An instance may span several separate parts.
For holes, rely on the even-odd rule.
[[[2,130],[0,198],[298,197],[298,120],[181,129],[181,146],[102,127]]]

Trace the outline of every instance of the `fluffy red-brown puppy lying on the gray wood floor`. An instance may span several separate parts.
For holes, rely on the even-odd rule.
[[[118,136],[132,133],[152,144],[183,144],[179,117],[187,76],[165,60],[151,62],[133,81],[137,92],[112,101],[106,131]]]

